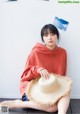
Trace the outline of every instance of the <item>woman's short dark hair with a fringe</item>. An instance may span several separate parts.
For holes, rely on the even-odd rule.
[[[58,29],[54,25],[52,25],[52,24],[47,24],[47,25],[44,25],[43,28],[41,29],[41,39],[42,39],[43,42],[44,42],[43,36],[45,34],[48,34],[49,31],[51,33],[56,34],[57,38],[59,40],[59,31],[58,31]]]

